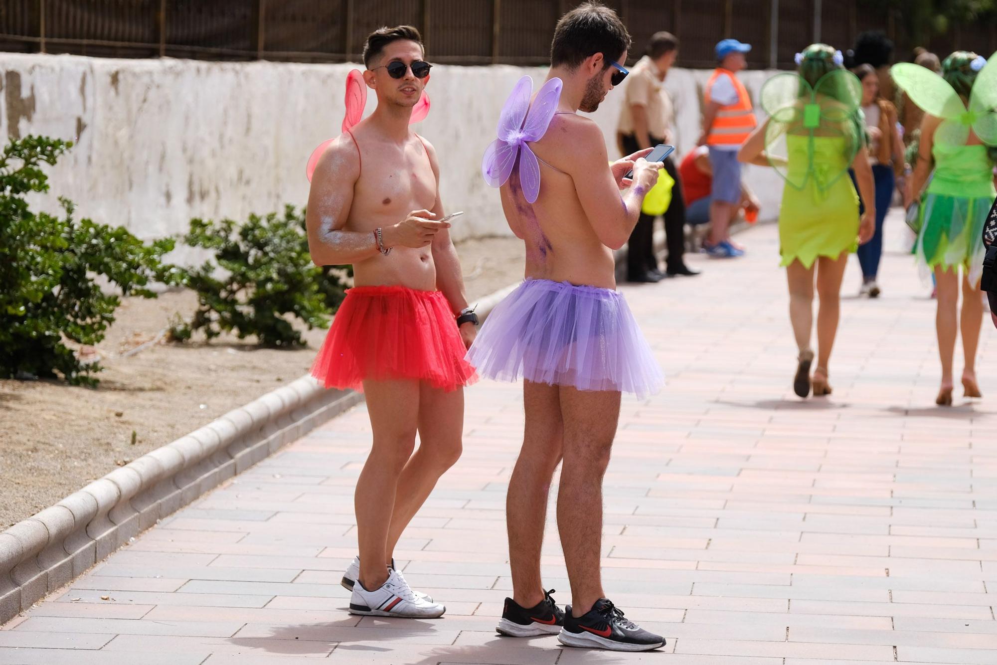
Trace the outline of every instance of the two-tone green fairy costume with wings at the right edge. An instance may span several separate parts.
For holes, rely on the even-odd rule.
[[[930,70],[901,63],[890,74],[914,104],[942,119],[931,149],[934,177],[921,200],[914,253],[929,268],[961,265],[970,283],[976,283],[986,253],[983,224],[997,195],[987,151],[987,146],[997,146],[997,55],[977,74],[968,109],[952,86]],[[970,131],[985,145],[967,145]]]

